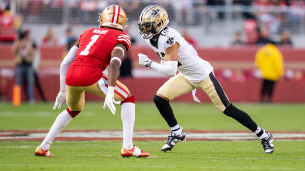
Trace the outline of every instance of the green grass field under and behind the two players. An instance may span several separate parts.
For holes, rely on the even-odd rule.
[[[103,103],[88,102],[65,128],[122,129],[120,107],[113,116]],[[235,104],[260,127],[271,131],[305,131],[305,104]],[[53,103],[0,103],[0,130],[48,130],[57,115]],[[247,130],[212,104],[172,103],[176,118],[187,130]],[[153,103],[137,103],[134,129],[168,129]],[[275,137],[276,138],[276,137]],[[55,157],[35,157],[37,141],[0,141],[0,171],[167,171],[167,170],[305,170],[305,141],[276,141],[274,153],[264,154],[260,141],[186,141],[161,152],[165,141],[135,141],[149,158],[122,158],[120,141],[55,141]]]

